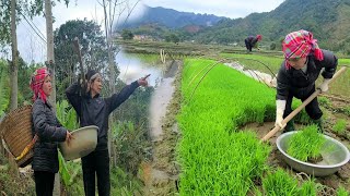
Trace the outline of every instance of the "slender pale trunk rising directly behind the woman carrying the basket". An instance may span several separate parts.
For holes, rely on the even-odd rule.
[[[45,17],[46,17],[46,39],[47,39],[47,62],[51,69],[52,93],[50,95],[50,103],[56,113],[56,79],[55,79],[55,54],[54,54],[54,29],[52,29],[52,10],[51,0],[45,0]],[[54,195],[60,196],[61,185],[59,173],[55,174]]]

